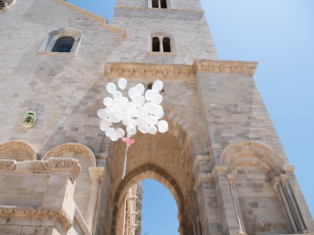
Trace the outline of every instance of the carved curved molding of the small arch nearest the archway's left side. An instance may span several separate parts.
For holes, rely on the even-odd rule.
[[[46,153],[42,160],[47,160],[49,158],[56,157],[57,155],[64,153],[64,152],[70,152],[70,151],[76,151],[79,153],[82,153],[88,157],[91,166],[96,166],[96,159],[95,155],[90,148],[86,147],[83,144],[80,143],[64,143],[59,146],[56,146],[52,148],[48,153]]]

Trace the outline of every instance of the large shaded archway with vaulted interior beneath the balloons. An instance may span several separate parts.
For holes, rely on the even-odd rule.
[[[122,198],[132,185],[147,178],[158,181],[174,196],[179,211],[180,234],[193,234],[191,211],[198,209],[197,206],[195,208],[197,202],[193,191],[192,167],[197,150],[181,125],[174,122],[169,126],[167,133],[157,133],[154,136],[137,133],[134,136],[136,142],[128,151],[124,180],[121,177],[125,143],[122,141],[109,143],[107,170],[97,220],[102,226],[97,226],[96,234],[104,234],[104,230],[100,231],[99,227],[105,228],[105,234],[117,234],[117,215]]]

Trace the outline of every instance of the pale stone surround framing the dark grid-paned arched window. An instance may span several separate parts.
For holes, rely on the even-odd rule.
[[[74,44],[71,49],[70,53],[66,52],[51,52],[52,47],[54,46],[55,42],[61,37],[72,37],[74,38]],[[78,47],[82,41],[83,34],[76,28],[58,28],[52,30],[45,38],[44,42],[42,43],[38,53],[39,54],[64,54],[64,55],[76,55],[78,53]]]

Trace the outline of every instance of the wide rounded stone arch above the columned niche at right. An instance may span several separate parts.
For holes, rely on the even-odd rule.
[[[256,141],[238,141],[229,144],[222,152],[220,162],[228,164],[232,169],[238,164],[253,164],[260,166],[266,172],[275,171],[280,174],[284,160],[268,145]]]

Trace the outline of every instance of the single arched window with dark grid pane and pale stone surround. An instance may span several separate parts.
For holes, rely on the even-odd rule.
[[[75,28],[55,29],[47,35],[38,54],[76,56],[82,38],[82,33]]]

